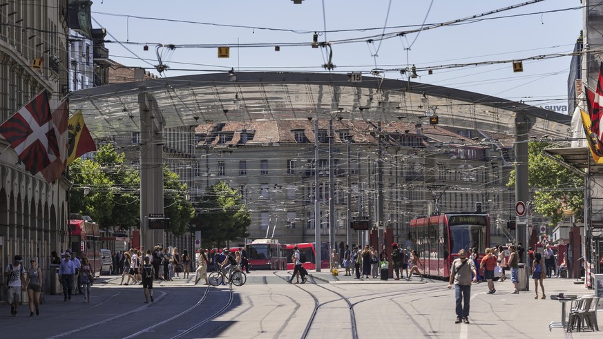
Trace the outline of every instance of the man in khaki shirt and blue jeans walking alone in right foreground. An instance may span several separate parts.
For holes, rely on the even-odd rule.
[[[452,284],[454,284],[454,298],[457,301],[457,320],[454,321],[456,324],[459,324],[461,321],[466,324],[469,323],[471,273],[473,273],[473,281],[477,281],[475,264],[473,260],[468,260],[467,252],[461,249],[459,250],[459,258],[455,259],[450,267],[450,280],[448,282],[448,289],[452,288]]]

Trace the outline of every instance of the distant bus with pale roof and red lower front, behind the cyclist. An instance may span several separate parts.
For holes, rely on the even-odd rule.
[[[285,244],[276,239],[256,239],[245,245],[251,269],[283,270],[287,268]]]

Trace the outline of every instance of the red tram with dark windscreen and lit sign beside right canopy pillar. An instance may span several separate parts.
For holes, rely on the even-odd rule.
[[[410,220],[410,240],[424,265],[419,267],[422,273],[448,278],[450,264],[460,249],[477,248],[479,260],[484,257],[490,244],[490,215],[443,213],[417,217]]]

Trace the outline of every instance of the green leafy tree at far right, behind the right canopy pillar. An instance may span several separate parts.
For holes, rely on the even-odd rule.
[[[530,142],[528,146],[528,186],[533,189],[533,206],[537,213],[550,217],[555,225],[569,211],[582,220],[584,215],[584,180],[558,162],[542,155],[546,142]],[[510,172],[507,186],[515,186],[515,170]]]

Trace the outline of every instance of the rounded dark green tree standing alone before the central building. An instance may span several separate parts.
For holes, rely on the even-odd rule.
[[[220,246],[227,240],[247,238],[251,213],[241,202],[241,195],[225,182],[211,186],[209,192],[197,202],[199,213],[193,224],[201,231],[203,241],[209,246]]]

